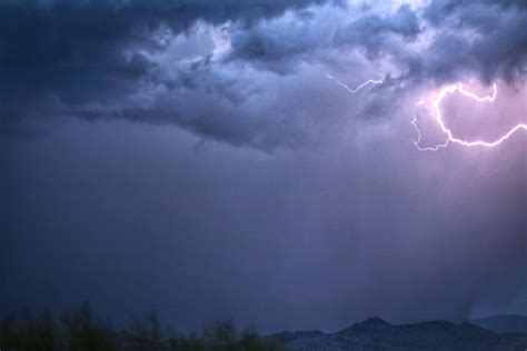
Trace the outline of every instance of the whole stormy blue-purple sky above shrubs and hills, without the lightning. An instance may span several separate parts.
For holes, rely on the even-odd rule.
[[[498,93],[441,101],[456,137],[525,123],[526,28],[525,0],[0,1],[0,314],[527,314],[526,132],[418,149],[458,82]]]

